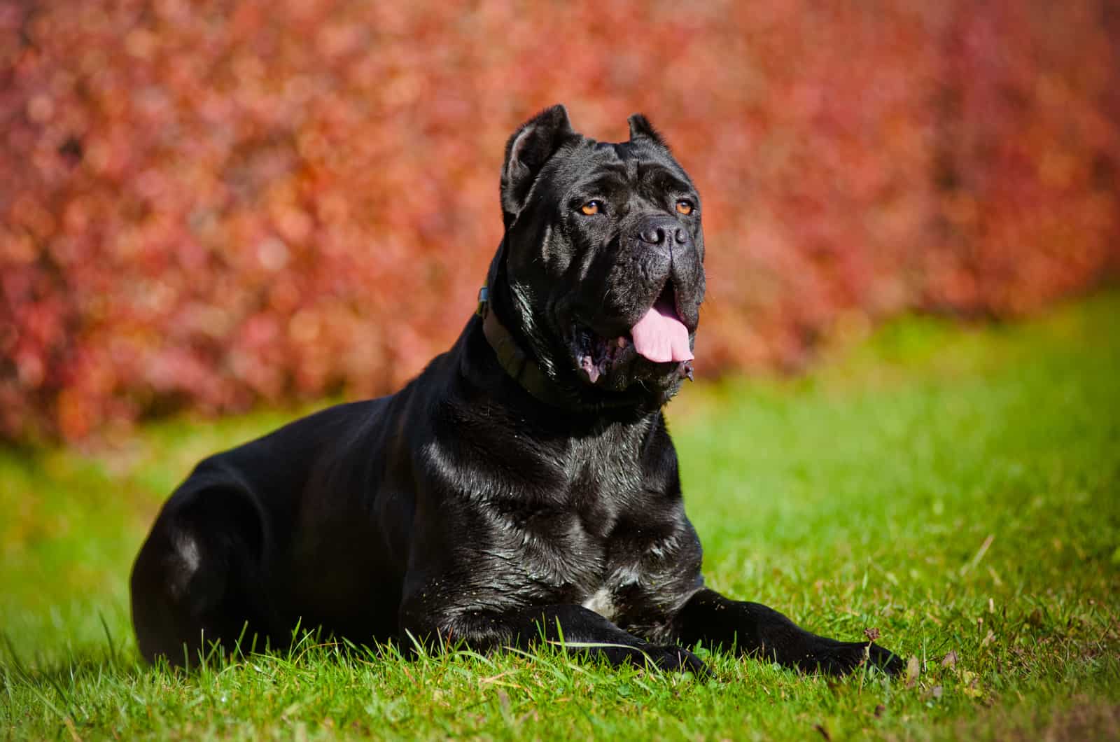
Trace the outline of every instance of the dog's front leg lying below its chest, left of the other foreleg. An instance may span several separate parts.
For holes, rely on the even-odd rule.
[[[403,628],[429,646],[436,638],[452,643],[463,641],[480,651],[503,647],[528,650],[544,642],[562,646],[569,652],[589,658],[606,659],[614,666],[648,664],[662,670],[708,674],[703,661],[689,650],[675,644],[642,641],[595,611],[570,603],[531,606],[501,614],[460,615],[442,621],[430,618],[410,620],[404,612],[402,619]]]

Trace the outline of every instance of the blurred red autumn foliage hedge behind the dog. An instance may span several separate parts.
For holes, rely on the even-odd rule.
[[[557,101],[700,185],[709,373],[1030,310],[1120,263],[1118,49],[1109,0],[0,0],[0,435],[393,389]]]

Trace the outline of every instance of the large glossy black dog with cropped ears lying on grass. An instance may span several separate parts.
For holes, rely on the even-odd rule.
[[[455,346],[395,395],[195,469],[132,572],[146,658],[276,647],[301,623],[482,650],[562,636],[612,664],[698,673],[696,642],[808,670],[900,668],[704,587],[661,414],[692,373],[700,198],[645,118],[629,127],[596,142],[560,105],[522,126],[505,236]]]

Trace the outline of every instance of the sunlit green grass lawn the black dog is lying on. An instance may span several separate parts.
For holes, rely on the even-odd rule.
[[[1120,736],[1118,294],[1015,325],[900,321],[808,377],[670,407],[709,583],[822,633],[874,627],[909,680],[309,638],[189,676],[142,665],[127,576],[159,504],[290,416],[0,451],[0,738]]]

